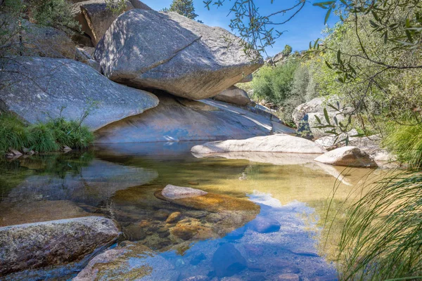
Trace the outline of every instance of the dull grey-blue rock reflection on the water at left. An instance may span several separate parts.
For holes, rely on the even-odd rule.
[[[11,190],[4,201],[71,200],[96,206],[117,190],[146,184],[157,176],[152,170],[95,159],[82,167],[79,174],[66,173],[63,178],[30,176]]]

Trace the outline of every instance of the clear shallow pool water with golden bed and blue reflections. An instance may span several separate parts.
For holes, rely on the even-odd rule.
[[[198,158],[189,152],[193,145],[110,145],[82,154],[2,162],[0,226],[93,214],[114,218],[124,233],[120,242],[154,251],[148,257],[131,256],[129,267],[118,269],[132,274],[147,264],[151,270],[142,280],[278,280],[288,273],[300,280],[335,280],[334,266],[322,257],[333,254],[335,235],[321,251],[321,221],[333,187],[338,187],[331,202],[335,211],[369,170],[347,169],[337,181],[343,168],[306,157],[255,153],[230,155],[246,159]],[[370,177],[377,174],[381,171]],[[167,184],[250,200],[259,211],[248,216],[248,211],[168,203],[154,195]],[[181,213],[181,222],[166,223],[175,212]],[[280,228],[257,232],[254,225],[262,219]],[[189,231],[178,233],[178,227]],[[65,280],[78,270],[75,266],[60,274]],[[107,274],[103,278],[117,280]]]

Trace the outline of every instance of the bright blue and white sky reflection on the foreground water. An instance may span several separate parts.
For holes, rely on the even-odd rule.
[[[316,226],[307,221],[312,208],[302,202],[283,206],[259,192],[250,200],[260,204],[261,212],[243,228],[196,242],[183,256],[167,251],[131,258],[127,269],[151,266],[153,272],[142,280],[336,280],[334,266],[316,254]]]

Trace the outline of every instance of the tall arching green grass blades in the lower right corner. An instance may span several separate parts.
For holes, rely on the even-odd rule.
[[[341,280],[421,278],[421,189],[420,172],[392,172],[349,209],[339,244]]]

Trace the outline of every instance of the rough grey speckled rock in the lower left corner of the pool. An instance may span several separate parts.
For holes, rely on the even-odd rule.
[[[112,220],[100,216],[0,228],[0,276],[81,261],[119,234]]]

